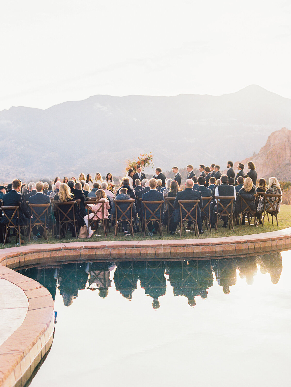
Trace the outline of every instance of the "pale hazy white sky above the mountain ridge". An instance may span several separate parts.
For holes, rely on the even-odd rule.
[[[289,1],[7,1],[0,110],[95,94],[291,98]]]

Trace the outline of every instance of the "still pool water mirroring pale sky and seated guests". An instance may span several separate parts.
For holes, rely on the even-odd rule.
[[[22,270],[58,312],[31,386],[287,385],[290,252],[282,254],[283,266],[273,253]]]

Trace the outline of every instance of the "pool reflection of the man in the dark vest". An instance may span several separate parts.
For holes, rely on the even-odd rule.
[[[216,281],[222,286],[223,293],[230,293],[230,286],[237,283],[237,269],[233,258],[222,258],[213,260],[213,269]]]

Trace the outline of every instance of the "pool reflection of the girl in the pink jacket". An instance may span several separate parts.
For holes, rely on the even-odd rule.
[[[108,288],[111,287],[110,268],[112,262],[90,262],[86,266],[86,273],[88,277],[89,290],[99,290],[99,297],[106,298],[108,295]]]

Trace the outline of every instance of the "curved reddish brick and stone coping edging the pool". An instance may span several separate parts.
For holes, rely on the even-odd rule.
[[[49,350],[54,332],[54,302],[49,291],[12,269],[88,259],[182,259],[248,255],[291,248],[291,227],[224,238],[71,242],[0,250],[0,276],[19,286],[29,307],[24,322],[0,346],[0,387],[24,386]]]

